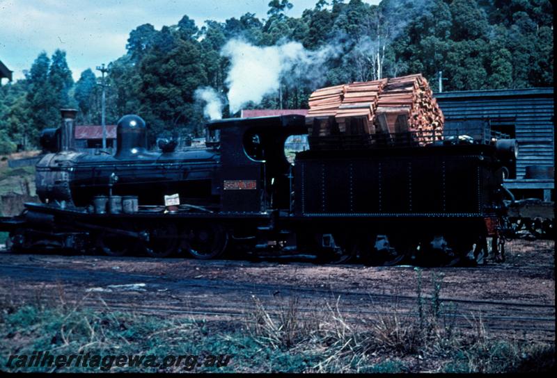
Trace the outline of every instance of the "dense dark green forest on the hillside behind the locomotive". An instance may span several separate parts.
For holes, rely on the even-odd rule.
[[[272,0],[265,19],[201,28],[187,15],[160,30],[137,26],[108,64],[107,124],[135,113],[152,137],[201,135],[210,117],[307,108],[325,85],[414,73],[434,91],[439,71],[444,91],[554,84],[549,0],[319,0],[288,17],[292,6]],[[79,109],[78,124],[100,124],[99,64],[74,82],[65,51],[38,51],[24,79],[0,87],[0,153],[36,148],[63,107]]]

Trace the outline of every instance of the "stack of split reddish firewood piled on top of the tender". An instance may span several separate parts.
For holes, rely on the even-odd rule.
[[[443,131],[443,113],[421,74],[321,88],[309,106],[311,135],[411,132],[432,141]]]

